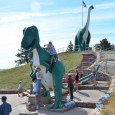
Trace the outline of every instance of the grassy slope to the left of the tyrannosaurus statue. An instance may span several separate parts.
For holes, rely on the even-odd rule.
[[[29,65],[23,65],[0,72],[0,89],[17,89],[19,81],[22,81],[23,87],[29,87],[31,79],[29,77]]]

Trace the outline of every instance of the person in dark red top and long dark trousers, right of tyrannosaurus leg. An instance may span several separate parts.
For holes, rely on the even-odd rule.
[[[73,101],[73,85],[74,80],[71,78],[71,75],[68,75],[68,88],[69,88],[69,93],[70,93],[70,101]]]

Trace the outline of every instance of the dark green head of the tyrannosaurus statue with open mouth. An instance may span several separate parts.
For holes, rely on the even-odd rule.
[[[23,29],[23,39],[21,47],[26,52],[31,52],[39,44],[39,33],[36,26],[30,26]]]

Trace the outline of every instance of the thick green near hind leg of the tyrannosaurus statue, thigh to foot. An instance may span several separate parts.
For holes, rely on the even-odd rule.
[[[53,86],[54,86],[54,94],[55,94],[55,102],[52,106],[54,109],[62,108],[61,100],[62,100],[62,77],[64,74],[65,68],[63,63],[57,61],[52,68],[53,74]]]

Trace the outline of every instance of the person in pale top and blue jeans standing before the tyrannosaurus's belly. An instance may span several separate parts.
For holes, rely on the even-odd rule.
[[[36,72],[36,79],[37,79],[37,88],[36,88],[36,96],[40,94],[41,91],[41,80],[43,78],[43,74],[41,72],[41,68],[37,67],[37,72]]]

